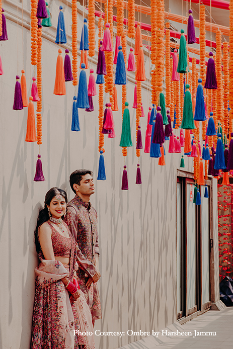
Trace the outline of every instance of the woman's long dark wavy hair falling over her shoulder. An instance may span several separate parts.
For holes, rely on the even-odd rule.
[[[44,208],[39,213],[39,216],[38,216],[38,219],[37,219],[37,224],[36,224],[36,229],[34,231],[37,253],[39,253],[39,251],[40,251],[40,241],[39,241],[39,236],[38,236],[38,230],[39,230],[39,227],[41,226],[41,224],[43,224],[44,222],[49,220],[47,205],[48,206],[50,205],[50,202],[52,201],[52,198],[54,198],[54,196],[56,196],[58,194],[57,192],[59,192],[63,196],[63,198],[65,199],[66,204],[68,202],[67,194],[65,193],[64,190],[62,190],[60,188],[55,188],[55,187],[51,188],[46,193],[45,200],[44,200]]]

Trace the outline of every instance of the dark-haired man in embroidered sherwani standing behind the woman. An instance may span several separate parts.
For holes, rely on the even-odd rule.
[[[80,288],[90,307],[94,326],[95,320],[101,319],[101,305],[97,287],[97,281],[100,278],[97,213],[89,201],[90,196],[95,193],[93,172],[87,169],[77,169],[71,173],[69,184],[75,197],[67,205],[65,221],[79,244],[81,252],[97,269],[93,277],[84,270],[77,271]]]

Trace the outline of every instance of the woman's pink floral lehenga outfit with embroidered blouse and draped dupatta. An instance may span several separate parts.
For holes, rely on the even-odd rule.
[[[42,252],[39,253],[41,263],[35,270],[31,349],[94,349],[93,335],[79,335],[79,332],[93,333],[92,316],[85,296],[80,290],[81,296],[70,303],[69,294],[60,280],[68,276],[72,281],[78,268],[74,258],[75,240],[71,234],[70,238],[60,235],[47,223],[52,229],[54,255],[58,250],[63,253],[60,256],[67,256],[69,251],[70,265],[44,259]]]

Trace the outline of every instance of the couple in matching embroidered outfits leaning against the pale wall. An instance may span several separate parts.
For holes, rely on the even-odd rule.
[[[94,336],[82,335],[93,333],[101,318],[97,213],[89,202],[93,173],[76,170],[69,183],[74,199],[66,206],[66,193],[51,188],[37,221],[41,263],[35,271],[31,349],[95,348]]]

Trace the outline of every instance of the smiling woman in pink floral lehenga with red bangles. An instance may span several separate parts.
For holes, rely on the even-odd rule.
[[[76,270],[80,266],[91,277],[99,272],[81,253],[62,220],[66,203],[66,193],[51,188],[37,221],[35,243],[41,263],[35,271],[31,349],[95,348],[90,335],[92,316],[79,289]]]

